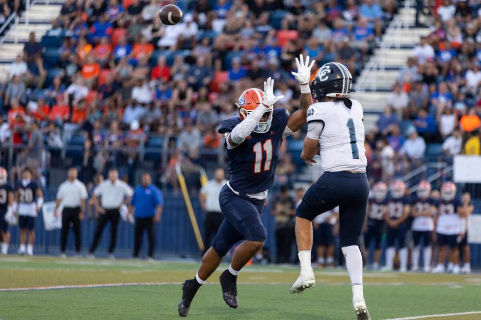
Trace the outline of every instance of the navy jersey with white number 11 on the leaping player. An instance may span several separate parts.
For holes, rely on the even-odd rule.
[[[230,174],[229,184],[235,191],[246,194],[261,193],[274,183],[279,148],[283,140],[289,113],[286,109],[274,109],[272,125],[266,133],[252,132],[239,146],[227,149]],[[225,134],[240,123],[239,117],[220,123],[218,132]],[[227,148],[227,142],[225,142]]]

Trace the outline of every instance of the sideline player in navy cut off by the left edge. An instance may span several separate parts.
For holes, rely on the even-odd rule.
[[[13,189],[7,183],[7,171],[0,167],[0,232],[1,245],[0,253],[7,254],[10,243],[10,232],[8,231],[8,220],[13,216]]]

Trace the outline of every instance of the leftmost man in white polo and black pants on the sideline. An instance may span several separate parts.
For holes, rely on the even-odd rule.
[[[68,171],[68,178],[63,182],[57,191],[55,200],[55,215],[57,214],[60,204],[63,206],[62,210],[62,232],[60,233],[60,252],[65,258],[65,245],[67,244],[67,236],[70,229],[70,223],[75,235],[75,250],[77,255],[80,254],[81,246],[81,232],[80,221],[85,215],[85,201],[87,199],[87,188],[80,182],[77,177],[79,172],[76,168],[70,168]]]

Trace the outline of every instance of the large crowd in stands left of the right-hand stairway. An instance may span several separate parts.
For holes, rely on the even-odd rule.
[[[162,25],[157,13],[169,2],[66,0],[42,40],[30,35],[0,88],[9,124],[2,142],[9,129],[15,144],[27,144],[22,132],[33,120],[53,147],[61,132],[83,132],[88,150],[169,135],[172,167],[217,148],[216,124],[268,76],[286,97],[279,105],[293,111],[299,53],[358,74],[397,10],[394,0],[180,0],[182,23]],[[135,161],[135,152],[122,154]]]

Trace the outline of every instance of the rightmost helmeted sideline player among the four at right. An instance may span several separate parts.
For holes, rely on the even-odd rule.
[[[449,247],[448,272],[458,274],[459,268],[459,251],[458,236],[460,234],[461,220],[458,215],[458,209],[461,206],[459,199],[456,199],[456,186],[453,182],[444,182],[441,186],[441,199],[437,204],[437,212],[434,218],[434,226],[436,230],[436,240],[439,245],[438,264],[433,269],[433,273],[444,272],[444,264],[446,262],[447,249]]]

